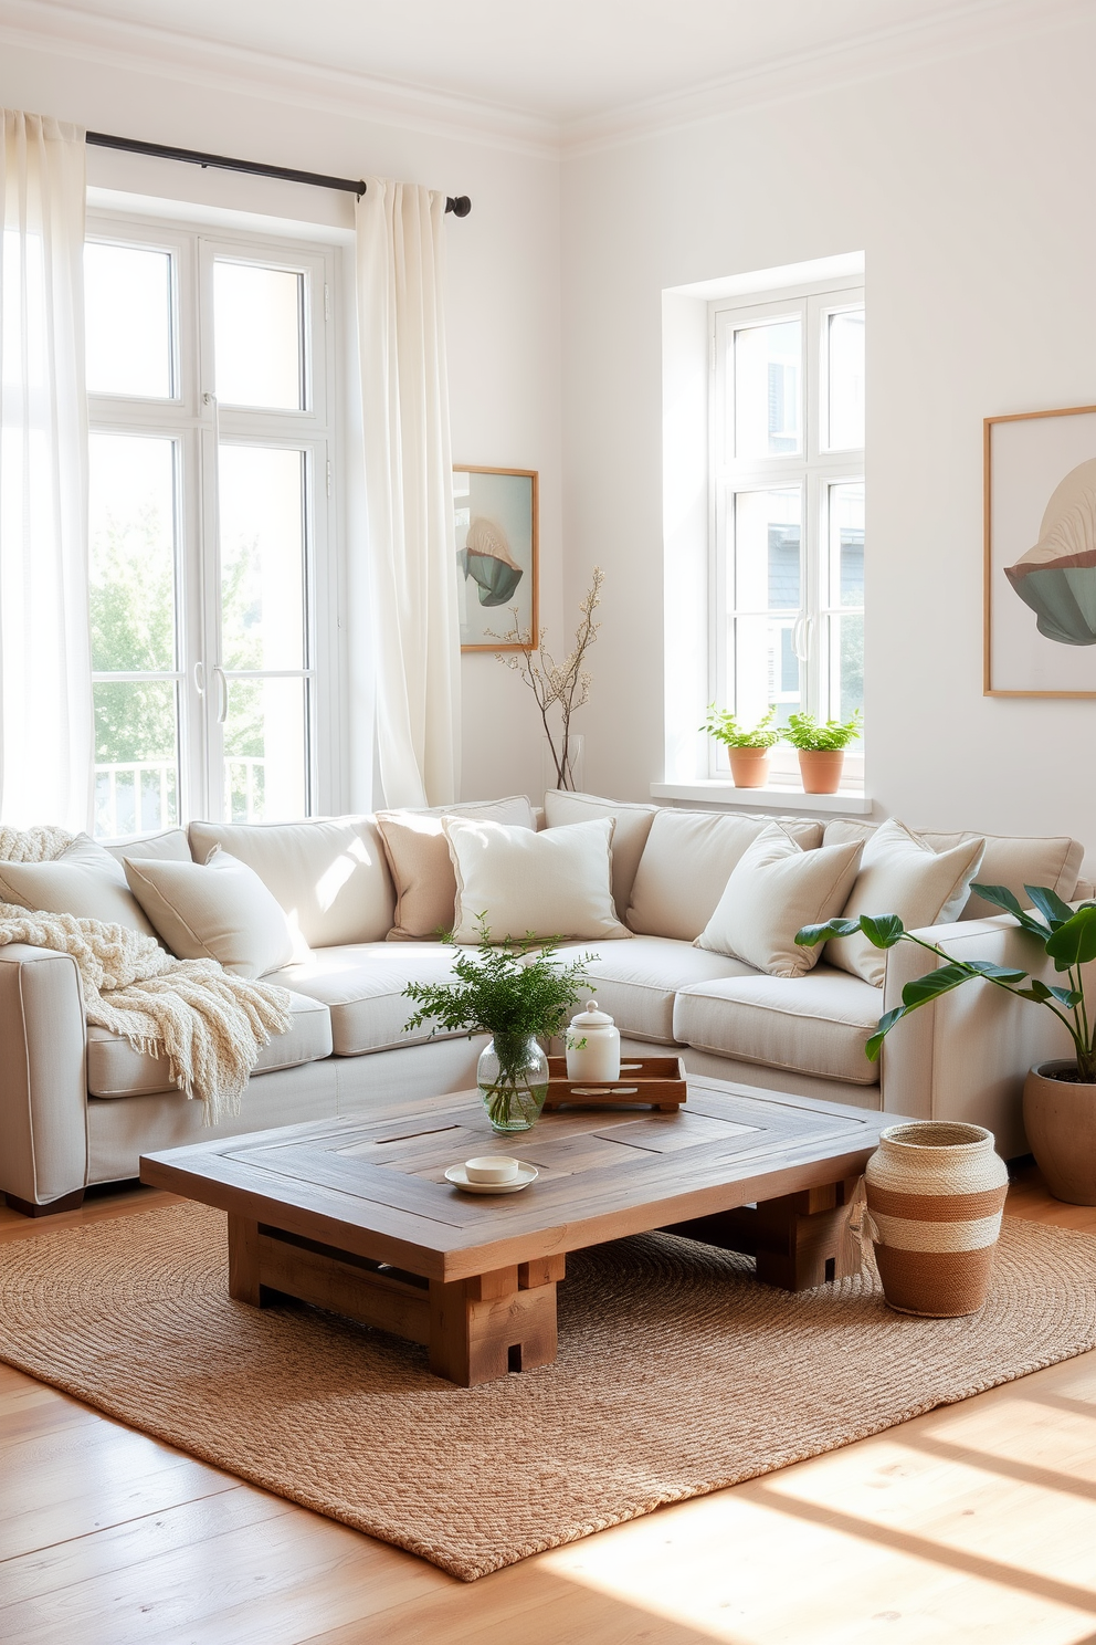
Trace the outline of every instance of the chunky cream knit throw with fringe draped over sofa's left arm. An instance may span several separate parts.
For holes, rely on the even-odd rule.
[[[53,860],[72,837],[51,827],[0,827],[0,859]],[[212,959],[174,959],[130,926],[0,903],[3,943],[71,954],[87,1022],[122,1035],[135,1051],[166,1056],[174,1084],[202,1102],[205,1125],[240,1112],[260,1050],[292,1020],[284,989],[233,977]]]

